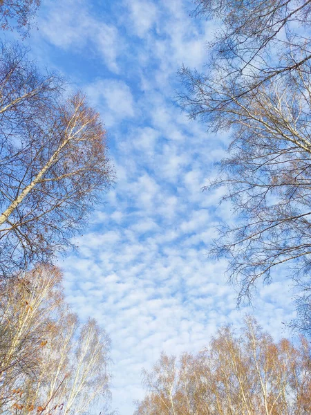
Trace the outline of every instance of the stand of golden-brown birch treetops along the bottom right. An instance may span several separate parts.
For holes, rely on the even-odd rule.
[[[310,365],[304,338],[276,343],[247,317],[241,335],[225,326],[195,356],[162,353],[135,415],[307,415]]]

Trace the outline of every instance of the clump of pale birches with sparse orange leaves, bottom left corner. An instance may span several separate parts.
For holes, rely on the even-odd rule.
[[[109,337],[95,320],[80,324],[70,312],[59,269],[40,266],[10,279],[0,299],[1,414],[108,409]]]

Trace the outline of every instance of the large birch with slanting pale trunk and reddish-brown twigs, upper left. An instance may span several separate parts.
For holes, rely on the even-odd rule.
[[[70,245],[113,180],[99,114],[81,93],[65,99],[62,80],[39,75],[25,53],[3,46],[0,67],[4,276]]]

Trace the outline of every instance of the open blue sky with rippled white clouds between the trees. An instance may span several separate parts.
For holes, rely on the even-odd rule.
[[[222,190],[202,192],[227,137],[207,135],[173,104],[181,64],[202,68],[211,23],[189,17],[187,0],[43,0],[26,43],[42,68],[82,89],[109,134],[117,183],[59,264],[68,302],[112,340],[113,408],[133,413],[141,369],[160,351],[198,351],[223,323],[245,313],[276,338],[293,316],[290,283],[258,286],[254,309],[236,310],[225,261],[207,257]]]

